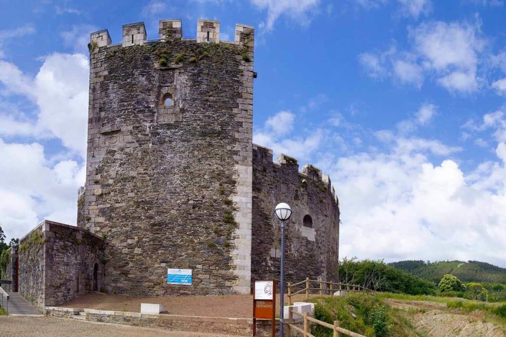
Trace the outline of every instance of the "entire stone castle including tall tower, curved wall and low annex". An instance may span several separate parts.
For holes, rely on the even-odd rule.
[[[287,202],[287,279],[335,280],[339,206],[311,165],[252,144],[254,28],[161,20],[91,34],[87,177],[77,228],[50,221],[21,240],[20,291],[40,307],[91,290],[164,296],[249,293],[278,278]],[[31,243],[28,245],[27,243]],[[21,249],[23,248],[24,249]],[[29,247],[29,249],[27,248]],[[167,268],[193,283],[166,283]]]

